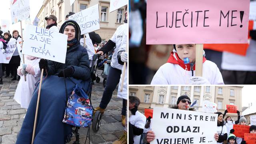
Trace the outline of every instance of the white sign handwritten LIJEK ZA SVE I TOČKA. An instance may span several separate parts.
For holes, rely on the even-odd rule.
[[[22,54],[65,63],[68,35],[26,25]]]

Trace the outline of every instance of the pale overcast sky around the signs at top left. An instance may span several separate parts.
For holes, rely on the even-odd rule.
[[[30,21],[33,22],[34,18],[38,14],[44,0],[30,0]],[[20,32],[20,22],[12,24],[11,13],[10,13],[10,0],[0,0],[0,20],[9,20],[10,21],[10,33],[12,34],[13,30],[18,30]],[[22,28],[25,27],[25,20],[22,20]]]

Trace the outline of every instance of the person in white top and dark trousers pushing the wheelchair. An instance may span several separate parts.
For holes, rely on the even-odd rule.
[[[118,58],[117,54],[118,51],[120,50],[121,47],[126,47],[126,44],[122,46],[122,40],[126,37],[127,35],[127,30],[128,30],[128,24],[127,24],[127,7],[125,11],[125,23],[119,26],[116,29],[116,32],[108,40],[108,42],[97,52],[97,54],[103,55],[109,52],[110,50],[114,49],[114,54],[112,55],[112,61],[111,61],[111,67],[109,68],[109,74],[108,78],[106,81],[106,87],[102,95],[102,99],[100,102],[100,106],[96,107],[94,109],[94,112],[99,110],[100,112],[104,112],[106,107],[108,106],[108,103],[111,100],[113,91],[115,90],[119,80],[120,80],[120,75],[122,74],[122,65],[118,64]],[[122,125],[125,125],[125,116],[126,115],[126,102],[123,100],[123,108],[122,108]]]

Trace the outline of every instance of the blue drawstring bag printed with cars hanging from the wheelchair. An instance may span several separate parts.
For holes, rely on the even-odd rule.
[[[74,87],[68,98],[62,122],[77,127],[89,127],[92,124],[92,104],[82,87]]]

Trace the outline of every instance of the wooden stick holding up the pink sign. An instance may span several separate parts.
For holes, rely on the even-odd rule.
[[[203,75],[203,48],[204,44],[196,44],[196,76]]]

